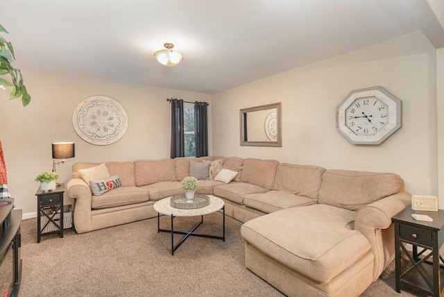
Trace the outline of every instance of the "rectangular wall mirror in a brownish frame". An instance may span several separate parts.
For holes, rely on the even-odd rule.
[[[243,108],[241,146],[282,146],[282,103]]]

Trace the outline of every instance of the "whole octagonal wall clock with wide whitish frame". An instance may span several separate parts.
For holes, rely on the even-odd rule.
[[[381,144],[402,126],[402,101],[383,87],[352,90],[336,107],[336,130],[352,144]]]

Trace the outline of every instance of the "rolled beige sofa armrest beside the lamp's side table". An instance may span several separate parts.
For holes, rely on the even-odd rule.
[[[91,230],[92,193],[85,180],[73,178],[67,184],[67,194],[75,198],[74,227],[76,232],[83,233]]]

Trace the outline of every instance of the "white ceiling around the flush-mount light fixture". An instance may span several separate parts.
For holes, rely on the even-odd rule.
[[[429,10],[425,0],[1,0],[0,24],[16,67],[214,93],[425,32],[418,18],[428,26],[434,14],[415,19],[418,3]],[[164,42],[180,65],[155,60]]]

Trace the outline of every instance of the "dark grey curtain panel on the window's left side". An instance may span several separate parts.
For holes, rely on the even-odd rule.
[[[171,99],[171,158],[184,156],[183,100]]]

